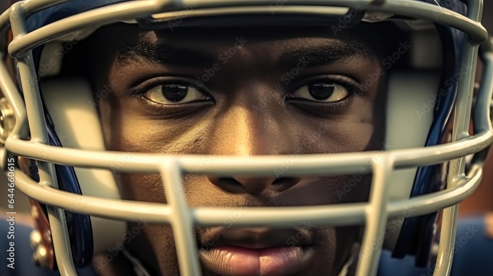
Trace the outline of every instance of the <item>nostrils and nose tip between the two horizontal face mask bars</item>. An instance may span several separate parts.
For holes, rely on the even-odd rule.
[[[283,192],[291,186],[300,182],[301,178],[296,177],[253,177],[238,176],[217,177],[208,176],[209,181],[219,188],[235,194],[248,193],[253,196],[272,190],[274,192]]]

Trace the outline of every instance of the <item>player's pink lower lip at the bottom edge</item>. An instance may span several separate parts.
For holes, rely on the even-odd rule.
[[[235,276],[286,275],[285,270],[300,264],[303,255],[303,248],[300,246],[264,249],[220,246],[201,251],[206,267],[221,274]]]

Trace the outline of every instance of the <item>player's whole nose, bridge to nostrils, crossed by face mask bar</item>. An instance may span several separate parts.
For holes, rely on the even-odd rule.
[[[211,153],[231,156],[294,154],[298,145],[297,136],[286,132],[293,126],[286,122],[285,114],[272,113],[267,107],[250,108],[263,106],[261,101],[267,99],[267,93],[273,93],[272,90],[258,82],[248,82],[237,89],[238,92],[231,96],[229,108],[216,117],[214,126],[211,127]],[[269,101],[277,103],[277,100],[282,102],[281,97]],[[272,196],[289,189],[301,180],[296,177],[259,176],[254,172],[227,177],[207,177],[213,185],[226,192],[253,196]]]

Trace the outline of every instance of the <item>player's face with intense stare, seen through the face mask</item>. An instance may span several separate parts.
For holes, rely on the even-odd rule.
[[[385,75],[373,85],[362,84],[381,66],[379,37],[367,33],[365,27],[337,36],[329,27],[173,32],[106,27],[95,35],[101,50],[94,74],[95,91],[112,89],[99,105],[106,147],[286,155],[277,177],[184,175],[191,208],[365,201],[369,172],[310,177],[282,172],[302,154],[382,149],[385,97],[379,91]],[[160,175],[116,178],[123,199],[167,202]],[[356,185],[348,189],[350,181]],[[223,225],[196,228],[204,275],[337,275],[359,239],[358,227],[310,221],[287,229],[238,228],[239,216],[241,209]],[[171,226],[151,222],[141,233],[135,239],[142,242],[129,245],[134,254],[162,275],[177,275]]]

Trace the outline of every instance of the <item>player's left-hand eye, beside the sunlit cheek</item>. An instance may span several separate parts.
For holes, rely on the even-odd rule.
[[[211,99],[197,88],[181,84],[161,84],[154,86],[145,92],[144,96],[158,104],[182,104]]]

